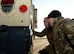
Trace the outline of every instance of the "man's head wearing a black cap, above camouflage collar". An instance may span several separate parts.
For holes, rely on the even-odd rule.
[[[61,12],[58,10],[53,10],[48,15],[48,26],[53,26],[56,17],[61,17]]]

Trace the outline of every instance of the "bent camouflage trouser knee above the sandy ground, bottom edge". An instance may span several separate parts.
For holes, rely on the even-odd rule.
[[[48,45],[44,47],[42,50],[40,50],[38,53],[39,54],[55,54],[55,51],[52,45]]]

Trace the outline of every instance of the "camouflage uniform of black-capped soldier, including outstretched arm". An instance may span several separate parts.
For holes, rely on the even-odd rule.
[[[73,54],[73,50],[70,47],[69,42],[65,38],[65,35],[69,33],[67,32],[68,30],[66,29],[65,24],[63,22],[63,24],[60,23],[58,25],[57,22],[58,21],[56,21],[56,23],[54,23],[54,26],[50,29],[45,28],[42,32],[34,31],[33,33],[38,37],[43,37],[44,35],[47,36],[47,39],[50,43],[48,54]],[[60,27],[60,29],[58,29],[58,26]]]

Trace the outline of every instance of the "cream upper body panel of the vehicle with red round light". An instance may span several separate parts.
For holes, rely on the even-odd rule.
[[[32,18],[31,0],[0,0],[0,25],[29,26]]]

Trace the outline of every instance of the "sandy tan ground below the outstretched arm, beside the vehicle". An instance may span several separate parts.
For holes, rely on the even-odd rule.
[[[49,43],[46,37],[36,37],[35,40],[33,40],[33,54],[38,54],[38,51],[47,46],[48,44]]]

